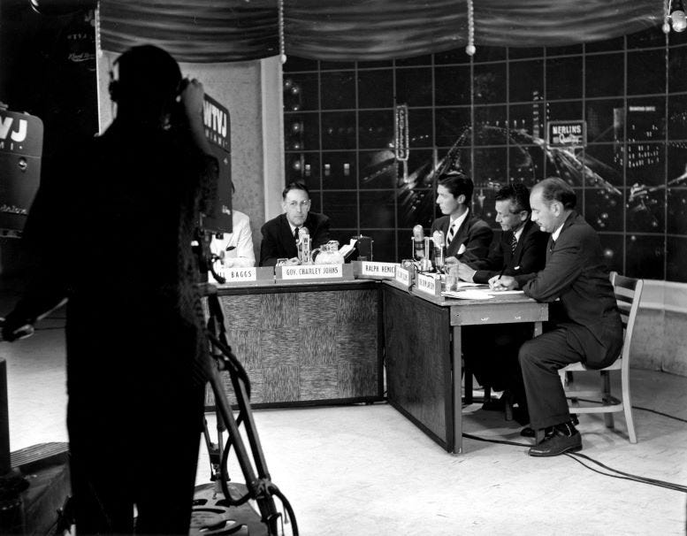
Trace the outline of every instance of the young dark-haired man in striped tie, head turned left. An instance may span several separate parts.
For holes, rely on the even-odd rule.
[[[471,216],[472,180],[462,172],[447,172],[439,177],[437,204],[441,216],[431,224],[431,234],[442,231],[447,243],[446,264],[485,260],[492,243],[492,228],[482,218]]]

